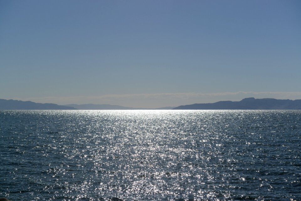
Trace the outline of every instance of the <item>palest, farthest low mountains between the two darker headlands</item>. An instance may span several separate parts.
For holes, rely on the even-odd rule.
[[[120,106],[120,105],[110,105],[110,104],[82,104],[82,105],[77,105],[77,104],[68,104],[68,105],[64,105],[64,106],[69,106],[69,107],[74,107],[77,109],[99,109],[99,110],[114,110],[114,109],[125,109],[125,110],[129,110],[129,109],[150,109],[150,108],[131,108],[131,107],[124,107],[124,106]],[[154,109],[172,109],[174,107],[163,107],[163,108],[154,108]]]

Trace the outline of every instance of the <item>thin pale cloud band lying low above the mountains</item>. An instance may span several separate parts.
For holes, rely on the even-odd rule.
[[[219,92],[219,93],[135,93],[135,94],[106,94],[100,96],[48,96],[48,97],[10,97],[6,99],[22,100],[22,101],[32,101],[35,103],[55,103],[58,105],[68,105],[68,104],[109,104],[109,105],[119,105],[131,108],[161,108],[161,107],[175,107],[175,105],[187,105],[194,103],[215,103],[219,101],[239,101],[243,98],[255,97],[262,98],[258,96],[265,95],[265,98],[275,98],[275,99],[290,99],[297,100],[301,99],[301,92],[254,92],[254,91],[238,91],[238,92]],[[226,97],[224,97],[226,96]],[[239,97],[227,97],[227,96],[239,96]],[[244,96],[244,97],[242,97]],[[272,96],[272,97],[270,97]],[[276,96],[276,97],[275,97]],[[157,102],[166,102],[166,99],[177,100],[178,103],[164,104],[159,106],[151,107],[142,106],[140,104],[127,105],[122,102],[126,102],[125,99],[140,99],[140,101],[145,101],[147,99],[156,99]],[[214,99],[214,100],[210,100]],[[124,100],[124,101],[122,101]],[[207,100],[207,101],[206,101]],[[89,102],[88,102],[89,101]],[[185,103],[186,102],[186,103]],[[160,103],[159,103],[160,104]]]

